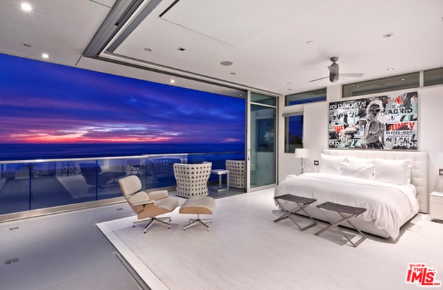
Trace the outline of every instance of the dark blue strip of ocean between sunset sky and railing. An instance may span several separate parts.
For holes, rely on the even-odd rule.
[[[8,143],[0,144],[0,161],[210,152],[244,152],[244,143]]]

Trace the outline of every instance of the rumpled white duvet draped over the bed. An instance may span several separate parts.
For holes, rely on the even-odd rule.
[[[317,199],[315,204],[331,201],[366,208],[361,219],[374,221],[374,225],[386,230],[392,239],[398,237],[401,221],[418,212],[416,193],[414,185],[410,184],[396,185],[320,173],[290,177],[274,191],[275,196],[311,197]]]

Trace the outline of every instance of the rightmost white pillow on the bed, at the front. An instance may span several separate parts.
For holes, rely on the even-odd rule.
[[[403,185],[409,183],[410,167],[407,160],[374,159],[374,181]]]

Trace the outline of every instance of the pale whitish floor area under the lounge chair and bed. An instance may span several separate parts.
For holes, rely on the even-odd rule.
[[[419,289],[406,282],[409,263],[437,269],[443,281],[443,224],[417,215],[397,243],[369,236],[353,248],[341,235],[301,232],[290,219],[273,222],[273,190],[217,199],[213,224],[183,231],[189,215],[172,212],[172,226],[132,227],[136,217],[98,224],[152,289]],[[309,219],[296,217],[303,224]]]

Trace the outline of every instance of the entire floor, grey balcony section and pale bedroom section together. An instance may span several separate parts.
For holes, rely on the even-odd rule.
[[[145,235],[143,225],[132,228],[127,203],[1,223],[0,289],[148,289],[96,224],[115,227],[130,251],[133,244],[141,250],[133,253],[148,257],[144,266],[156,263],[168,289],[418,289],[405,282],[411,262],[434,267],[443,281],[443,224],[428,215],[405,226],[397,243],[370,237],[352,248],[339,236],[313,235],[321,224],[300,232],[289,219],[273,223],[281,212],[271,190],[217,201],[210,232],[183,232],[188,217],[177,212],[170,230],[156,226]],[[175,254],[150,252],[150,243]],[[203,263],[201,272],[183,271]]]

